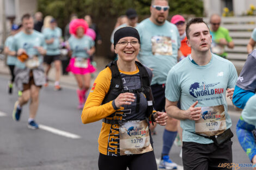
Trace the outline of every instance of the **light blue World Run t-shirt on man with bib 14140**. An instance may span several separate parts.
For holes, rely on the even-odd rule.
[[[235,66],[228,60],[212,54],[205,66],[193,64],[188,56],[169,71],[166,82],[166,98],[176,102],[180,99],[181,110],[187,110],[198,100],[196,107],[224,105],[227,129],[231,127],[228,115],[226,89],[234,88],[237,79]],[[191,132],[195,131],[195,121],[181,120],[182,140],[202,144],[212,143]]]

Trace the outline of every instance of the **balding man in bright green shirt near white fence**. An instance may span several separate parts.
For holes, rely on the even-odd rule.
[[[221,17],[217,14],[214,14],[210,17],[211,24],[211,36],[212,36],[212,45],[211,52],[217,55],[227,58],[227,53],[225,53],[225,46],[228,48],[234,48],[234,42],[229,36],[228,29],[220,27]]]

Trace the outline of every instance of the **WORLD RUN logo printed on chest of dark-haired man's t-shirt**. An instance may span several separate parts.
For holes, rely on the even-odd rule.
[[[206,84],[205,82],[202,83],[193,83],[190,85],[190,95],[198,98],[202,96],[209,96],[209,95],[216,95],[216,94],[221,94],[224,92],[223,88],[214,88],[217,84],[220,83],[210,83]]]

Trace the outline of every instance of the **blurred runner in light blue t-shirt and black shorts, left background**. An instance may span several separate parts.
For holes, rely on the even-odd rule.
[[[47,44],[47,52],[44,57],[44,62],[46,64],[46,84],[48,86],[48,78],[47,75],[51,69],[51,63],[54,62],[54,67],[56,70],[55,76],[55,83],[54,83],[54,90],[59,91],[62,88],[59,85],[59,78],[60,78],[60,42],[62,41],[62,30],[57,27],[57,22],[54,18],[50,21],[50,28],[45,28],[42,31],[42,34],[45,36],[45,42]]]

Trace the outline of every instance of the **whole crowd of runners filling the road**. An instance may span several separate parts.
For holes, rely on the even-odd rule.
[[[181,15],[167,21],[169,5],[153,0],[150,17],[139,23],[135,9],[118,18],[110,40],[115,59],[106,63],[92,87],[95,45],[102,43],[92,18],[72,15],[62,38],[56,18],[43,21],[41,12],[23,15],[21,24],[11,27],[4,48],[11,73],[8,93],[14,87],[19,92],[13,119],[19,121],[22,106],[31,100],[28,128],[39,128],[39,92],[48,86],[52,65],[54,90],[62,90],[60,58],[65,55],[69,64],[63,74],[71,72],[77,81],[82,123],[102,120],[99,169],[157,169],[151,136],[157,135],[156,124],[165,127],[159,168],[177,168],[169,158],[176,143],[182,146],[184,169],[228,169],[218,167],[232,163],[226,97],[237,110],[243,109],[236,135],[256,163],[256,29],[238,76],[226,59],[224,49],[234,48],[234,42],[220,26],[221,17],[212,15],[210,27],[202,18],[186,22]]]

